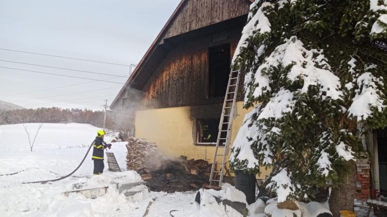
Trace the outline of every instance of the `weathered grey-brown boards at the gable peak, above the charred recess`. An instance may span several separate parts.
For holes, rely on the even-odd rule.
[[[246,0],[186,1],[162,38],[169,38],[249,13]]]

